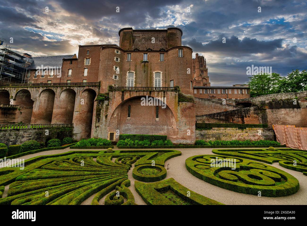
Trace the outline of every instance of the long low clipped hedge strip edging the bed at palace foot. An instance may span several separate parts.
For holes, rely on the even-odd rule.
[[[172,146],[117,146],[119,149],[144,148],[286,148],[286,145],[172,145]]]

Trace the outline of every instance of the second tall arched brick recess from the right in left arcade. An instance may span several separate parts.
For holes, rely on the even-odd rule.
[[[54,103],[52,124],[72,124],[76,102],[76,92],[64,89]]]

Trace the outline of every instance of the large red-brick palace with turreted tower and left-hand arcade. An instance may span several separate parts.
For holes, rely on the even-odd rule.
[[[193,144],[196,109],[203,108],[194,97],[249,98],[249,88],[211,86],[206,59],[199,54],[192,59],[181,36],[176,27],[122,28],[119,45],[80,45],[78,57],[24,54],[33,61],[28,84],[0,89],[0,104],[26,113],[3,113],[1,123],[73,124],[76,139],[161,134],[173,143]],[[160,103],[144,105],[144,97]]]

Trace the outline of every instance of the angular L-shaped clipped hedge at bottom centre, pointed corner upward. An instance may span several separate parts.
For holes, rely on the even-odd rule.
[[[190,204],[190,205],[223,205],[220,202],[217,202],[213,199],[209,199],[205,196],[202,196],[196,192],[191,191],[190,189],[179,184],[173,178],[167,180],[161,180],[154,183],[142,183],[139,181],[134,182],[134,188],[136,192],[142,197],[142,199],[148,205],[176,205],[176,200],[168,199],[161,192],[171,190],[176,194],[177,199],[181,203]],[[188,196],[190,193],[190,196]]]

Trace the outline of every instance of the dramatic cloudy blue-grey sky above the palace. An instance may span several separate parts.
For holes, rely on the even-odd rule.
[[[0,39],[13,38],[12,49],[33,56],[77,54],[80,44],[119,44],[123,27],[177,26],[182,45],[206,58],[211,85],[246,83],[251,65],[282,76],[307,69],[306,1],[1,0],[0,15]]]

